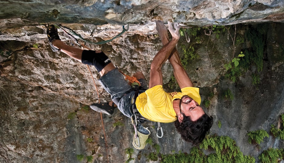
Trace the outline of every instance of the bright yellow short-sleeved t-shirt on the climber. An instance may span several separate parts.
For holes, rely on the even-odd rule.
[[[199,88],[185,87],[182,92],[167,93],[162,85],[156,85],[141,93],[136,99],[136,107],[139,113],[148,120],[170,123],[176,120],[173,110],[173,100],[188,95],[198,104],[201,102]]]

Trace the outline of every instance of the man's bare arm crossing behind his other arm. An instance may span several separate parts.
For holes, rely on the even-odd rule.
[[[169,43],[168,30],[163,21],[156,21],[156,29],[160,35],[162,44],[166,45],[167,43]],[[187,75],[185,69],[182,66],[182,63],[179,58],[179,53],[176,50],[176,47],[173,49],[169,56],[169,62],[173,66],[173,74],[178,82],[179,87],[193,87],[189,76]]]

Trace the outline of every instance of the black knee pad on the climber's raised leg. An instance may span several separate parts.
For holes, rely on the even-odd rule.
[[[104,52],[96,53],[94,50],[83,50],[81,62],[95,66],[98,72],[100,72],[107,64],[111,63],[111,60]]]

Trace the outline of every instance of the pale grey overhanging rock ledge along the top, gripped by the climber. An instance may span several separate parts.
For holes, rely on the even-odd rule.
[[[237,24],[283,21],[281,0],[85,0],[85,1],[2,1],[0,19],[21,18],[22,23],[127,24],[161,19],[184,24]],[[3,22],[2,22],[3,23]]]

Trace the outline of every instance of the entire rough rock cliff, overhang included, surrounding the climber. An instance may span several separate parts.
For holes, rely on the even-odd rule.
[[[62,23],[83,38],[98,42],[113,38],[122,31],[122,24],[131,22],[121,37],[103,45],[86,45],[104,51],[128,75],[142,71],[147,81],[150,63],[162,47],[154,21],[187,25],[181,30],[187,35],[177,49],[192,82],[200,88],[202,101],[210,101],[210,106],[202,102],[202,107],[214,117],[211,135],[230,136],[241,152],[256,162],[263,150],[284,148],[283,140],[271,135],[260,145],[247,142],[250,131],[264,129],[269,133],[271,124],[283,127],[279,116],[284,113],[284,25],[277,23],[284,19],[283,1],[0,3],[5,6],[0,12],[0,162],[79,162],[80,155],[84,161],[92,156],[92,162],[125,162],[129,157],[125,149],[133,148],[133,127],[127,117],[115,110],[112,116],[102,115],[102,125],[101,114],[88,106],[98,102],[97,91],[101,102],[110,100],[97,82],[96,70],[90,67],[98,90],[85,65],[51,51],[46,28],[40,23]],[[269,23],[238,24],[255,22]],[[213,29],[213,24],[237,25]],[[198,29],[192,25],[207,26]],[[260,28],[265,30],[261,36],[263,52],[257,53],[263,55],[262,62],[246,62],[250,67],[236,82],[224,78],[225,64],[241,51],[253,51],[247,31]],[[74,43],[62,30],[59,34],[66,43]],[[260,63],[263,68],[258,71]],[[163,87],[178,90],[169,62],[162,71]],[[228,90],[232,100],[224,97]],[[192,144],[181,140],[173,123],[162,124],[161,139],[155,136],[156,123],[145,126],[151,131],[153,144],[160,146],[160,154],[190,153]],[[132,162],[147,162],[145,155],[150,152],[156,152],[154,145],[134,150]]]

